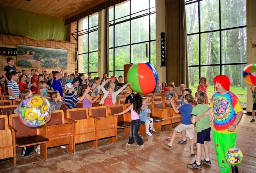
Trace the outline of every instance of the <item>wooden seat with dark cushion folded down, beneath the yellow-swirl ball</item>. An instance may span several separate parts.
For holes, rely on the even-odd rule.
[[[18,114],[11,114],[9,116],[9,127],[14,131],[13,141],[17,147],[22,148],[40,144],[41,148],[42,144],[49,141],[49,139],[39,134],[38,128],[31,128],[24,125],[21,122]],[[45,159],[44,155],[47,155],[47,150],[40,149],[40,152],[41,157]],[[16,150],[14,152],[14,159],[11,161],[11,163],[13,164],[13,167],[16,167]]]

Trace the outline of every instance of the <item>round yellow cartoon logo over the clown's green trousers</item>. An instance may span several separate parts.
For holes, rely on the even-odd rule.
[[[239,164],[243,158],[243,153],[238,148],[230,148],[226,153],[227,161],[231,164]]]

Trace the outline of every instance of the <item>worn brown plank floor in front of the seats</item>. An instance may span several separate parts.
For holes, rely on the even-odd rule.
[[[256,122],[250,123],[250,120],[251,116],[243,116],[236,139],[236,147],[243,152],[239,171],[244,173],[256,171]],[[126,146],[128,139],[123,130],[118,130],[116,145],[108,140],[99,141],[98,150],[88,144],[77,145],[75,154],[68,154],[60,147],[52,148],[48,150],[48,163],[37,154],[30,160],[20,159],[18,149],[17,172],[201,172],[187,167],[195,158],[190,157],[189,143],[177,144],[181,140],[180,133],[173,148],[164,145],[166,141],[161,138],[171,134],[171,130],[163,128],[161,133],[153,133],[151,137],[142,136],[145,147],[140,148],[137,144]],[[209,147],[212,166],[203,166],[202,172],[219,172],[213,141]],[[8,160],[0,162],[0,172],[14,171],[8,163]]]

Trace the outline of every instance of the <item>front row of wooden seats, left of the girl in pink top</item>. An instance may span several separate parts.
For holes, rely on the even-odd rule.
[[[21,123],[17,114],[1,116],[2,135],[0,159],[14,157],[12,166],[16,167],[16,146],[25,147],[40,144],[41,157],[47,161],[47,149],[66,145],[69,153],[75,152],[75,144],[90,142],[97,148],[98,140],[109,138],[116,142],[117,117],[107,113],[107,106],[68,109],[64,117],[62,110],[52,111],[50,121],[42,127],[30,128]],[[3,123],[4,122],[4,123]],[[11,138],[10,138],[11,136]],[[8,139],[12,139],[10,142]]]

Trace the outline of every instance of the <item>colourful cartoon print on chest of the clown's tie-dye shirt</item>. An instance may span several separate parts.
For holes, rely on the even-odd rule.
[[[215,98],[213,101],[214,116],[218,119],[227,117],[230,114],[230,103],[223,98]]]

